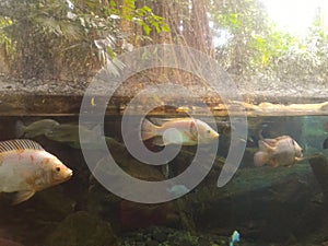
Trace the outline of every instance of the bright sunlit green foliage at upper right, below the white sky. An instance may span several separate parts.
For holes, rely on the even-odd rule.
[[[258,0],[213,1],[214,35],[229,33],[216,47],[216,59],[231,73],[247,80],[327,81],[327,35],[314,21],[305,38],[279,31]]]

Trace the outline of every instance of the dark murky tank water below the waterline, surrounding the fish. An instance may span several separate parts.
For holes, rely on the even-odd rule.
[[[68,127],[55,127],[55,131],[54,126],[40,124],[24,129],[23,134],[17,132],[17,122],[31,126],[43,119]],[[2,192],[0,245],[327,245],[328,167],[307,160],[288,166],[256,166],[254,155],[261,138],[290,136],[305,157],[317,153],[327,157],[323,144],[328,137],[328,116],[249,117],[242,163],[223,187],[216,181],[231,144],[231,130],[227,118],[215,120],[219,148],[204,179],[178,199],[145,204],[108,191],[92,175],[79,142],[78,116],[1,117],[1,141],[34,140],[73,175],[16,206],[11,204],[14,194]],[[45,129],[54,131],[46,134]],[[167,165],[147,165],[129,154],[120,130],[120,116],[105,117],[104,134],[114,160],[139,179],[160,181],[177,176],[190,165],[197,151],[194,145],[183,147]],[[152,151],[162,150],[152,142],[145,144]],[[92,151],[97,154],[96,143]],[[116,174],[110,175],[115,180]],[[175,188],[171,192],[185,191]],[[239,233],[239,242],[232,241],[234,231]]]

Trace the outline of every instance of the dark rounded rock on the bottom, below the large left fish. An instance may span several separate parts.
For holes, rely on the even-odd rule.
[[[45,246],[116,246],[109,223],[79,211],[67,216],[48,236]]]

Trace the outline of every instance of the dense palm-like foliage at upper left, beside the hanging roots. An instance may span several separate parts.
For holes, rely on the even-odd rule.
[[[17,50],[13,61],[17,73],[89,75],[106,62],[112,62],[112,72],[118,73],[122,65],[112,60],[125,40],[122,21],[142,26],[145,35],[169,31],[163,17],[147,5],[137,8],[134,0],[125,0],[124,5],[114,0],[72,0],[72,4],[69,8],[66,0],[31,0],[12,5],[9,12],[13,23],[4,31]]]

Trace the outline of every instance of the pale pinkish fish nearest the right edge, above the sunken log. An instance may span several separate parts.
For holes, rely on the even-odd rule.
[[[259,151],[254,155],[254,164],[262,166],[269,164],[272,167],[291,166],[304,161],[303,150],[290,136],[281,136],[276,139],[262,139],[258,141]]]

